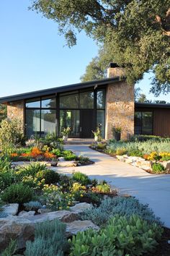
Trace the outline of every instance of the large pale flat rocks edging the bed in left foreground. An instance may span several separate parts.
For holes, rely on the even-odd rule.
[[[86,204],[86,208],[89,204]],[[79,205],[79,213],[86,209],[85,204]],[[27,213],[27,214],[26,214]],[[63,223],[66,223],[66,236],[72,236],[79,231],[86,231],[87,229],[98,230],[91,221],[80,221],[78,211],[58,210],[50,213],[43,213],[32,216],[35,212],[22,212],[20,216],[8,216],[6,218],[0,218],[0,252],[3,251],[11,241],[11,239],[17,240],[17,246],[19,249],[25,247],[27,240],[34,239],[35,225],[44,221],[53,221],[58,219]]]

